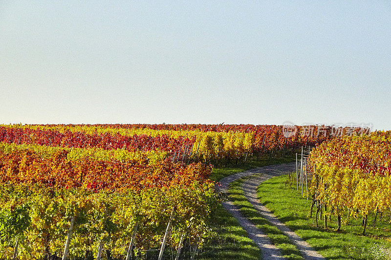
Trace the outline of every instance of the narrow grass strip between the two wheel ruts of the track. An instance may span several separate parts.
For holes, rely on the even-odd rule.
[[[288,237],[286,237],[276,226],[271,225],[269,221],[262,218],[261,214],[259,214],[254,206],[246,199],[241,184],[247,179],[248,177],[241,178],[231,183],[229,188],[230,200],[233,200],[235,205],[240,208],[240,212],[243,216],[263,230],[272,243],[275,244],[277,248],[281,249],[285,259],[302,260],[303,257],[300,255],[300,251],[290,242]]]

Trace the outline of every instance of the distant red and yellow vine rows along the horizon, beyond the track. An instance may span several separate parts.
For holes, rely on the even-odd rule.
[[[308,126],[310,130],[295,127],[296,133],[286,138],[282,126],[277,125],[2,125],[0,140],[130,151],[150,151],[160,147],[171,156],[186,149],[189,156],[195,155],[195,160],[217,161],[244,158],[253,152],[316,145],[332,138],[333,133],[348,131],[325,126]],[[205,131],[209,129],[217,131]]]

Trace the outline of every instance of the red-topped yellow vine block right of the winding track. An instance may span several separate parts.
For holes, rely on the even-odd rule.
[[[390,131],[324,142],[311,152],[309,166],[313,205],[317,203],[317,213],[324,207],[325,219],[335,215],[338,230],[341,216],[362,216],[364,235],[369,214],[374,226],[377,216],[391,209]]]

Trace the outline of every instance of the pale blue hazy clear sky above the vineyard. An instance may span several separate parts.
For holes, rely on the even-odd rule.
[[[391,1],[0,0],[0,123],[391,130]]]

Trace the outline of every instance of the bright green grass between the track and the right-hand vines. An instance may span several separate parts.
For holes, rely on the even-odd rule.
[[[329,228],[317,228],[314,218],[309,219],[311,201],[301,196],[296,187],[286,186],[287,175],[263,182],[258,197],[276,217],[311,244],[326,259],[333,260],[386,260],[391,259],[390,222],[386,219],[376,227],[368,228],[361,236],[361,220],[350,219],[336,232],[336,218],[328,220]],[[345,218],[346,219],[346,218]],[[388,218],[389,220],[389,218]],[[371,220],[369,219],[369,223]],[[322,220],[320,221],[322,225]],[[377,238],[377,239],[375,239]]]

